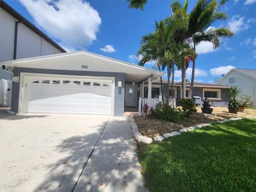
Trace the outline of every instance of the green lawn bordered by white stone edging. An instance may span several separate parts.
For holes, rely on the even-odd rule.
[[[138,153],[153,192],[256,192],[256,119],[214,123]]]

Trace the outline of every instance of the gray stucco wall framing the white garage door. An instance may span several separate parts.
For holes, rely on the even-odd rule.
[[[63,74],[63,75],[86,75],[86,76],[106,76],[115,77],[115,109],[114,116],[123,116],[124,114],[124,88],[125,74],[112,72],[94,72],[94,71],[68,71],[68,70],[48,70],[35,68],[14,68],[14,76],[20,76],[20,72],[41,73],[41,74]],[[118,81],[122,81],[122,88],[118,88]],[[20,83],[12,83],[12,107],[11,111],[18,112]]]

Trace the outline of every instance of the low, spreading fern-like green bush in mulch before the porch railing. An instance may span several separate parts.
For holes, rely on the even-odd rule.
[[[183,115],[180,113],[180,110],[171,108],[166,104],[164,104],[162,108],[156,108],[154,115],[158,119],[163,119],[176,123],[180,122],[183,119]]]

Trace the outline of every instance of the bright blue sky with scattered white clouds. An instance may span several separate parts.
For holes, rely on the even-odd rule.
[[[154,32],[154,22],[170,15],[172,0],[148,0],[144,11],[128,9],[125,0],[5,0],[66,51],[87,50],[138,64],[140,38]],[[180,0],[184,4],[184,0]],[[190,0],[188,13],[196,0]],[[219,8],[228,14],[212,27],[227,27],[235,34],[222,39],[220,48],[202,42],[196,47],[195,82],[214,83],[231,68],[256,69],[256,0],[228,0]],[[144,66],[152,68],[153,64]],[[186,71],[190,80],[192,63]],[[166,76],[167,77],[167,76]],[[176,71],[176,81],[181,72]]]

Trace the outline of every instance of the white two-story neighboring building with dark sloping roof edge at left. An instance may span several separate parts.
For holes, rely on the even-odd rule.
[[[56,42],[0,0],[0,61],[64,52]],[[12,73],[1,68],[0,78],[12,79]]]

